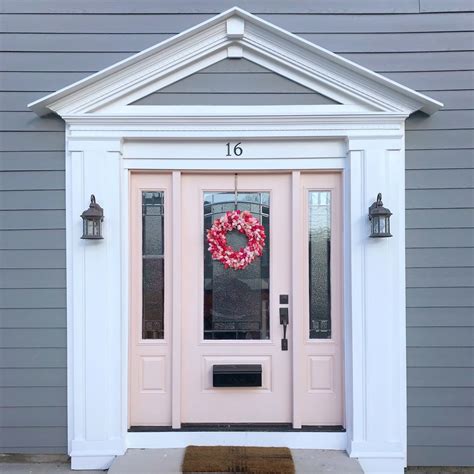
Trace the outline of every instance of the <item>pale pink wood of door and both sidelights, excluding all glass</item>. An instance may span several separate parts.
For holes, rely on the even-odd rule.
[[[176,188],[173,195],[172,186]],[[239,174],[239,190],[269,191],[271,195],[270,340],[263,341],[203,338],[203,193],[233,190],[234,175],[180,176],[175,172],[172,179],[171,174],[137,173],[132,174],[130,189],[130,424],[173,424],[175,428],[181,422],[343,425],[341,175]],[[140,337],[142,190],[165,192],[166,336],[163,341],[143,341]],[[308,193],[311,190],[329,190],[332,196],[332,338],[328,340],[309,339]],[[177,208],[180,202],[181,213]],[[171,216],[171,207],[175,216]],[[181,239],[172,235],[172,229],[174,232],[179,229]],[[180,251],[175,247],[173,252],[173,245],[179,246]],[[280,294],[290,295],[287,352],[281,351],[280,345]],[[171,364],[171,354],[176,356],[177,351],[181,361]],[[239,363],[262,365],[261,388],[212,387],[213,364]],[[171,367],[176,372],[173,377]]]

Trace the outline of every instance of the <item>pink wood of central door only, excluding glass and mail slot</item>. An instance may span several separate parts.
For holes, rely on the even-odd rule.
[[[270,192],[270,337],[203,339],[203,193],[232,191],[234,175],[183,175],[183,386],[185,423],[291,421],[291,352],[281,350],[278,295],[290,291],[290,176],[239,174],[239,191]],[[290,326],[291,328],[291,326]],[[291,329],[290,329],[291,332]],[[290,334],[291,337],[291,334]],[[259,388],[213,388],[213,364],[261,364]]]

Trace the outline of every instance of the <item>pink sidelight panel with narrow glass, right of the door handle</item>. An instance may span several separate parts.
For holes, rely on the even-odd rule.
[[[344,425],[341,175],[301,175],[303,425]]]

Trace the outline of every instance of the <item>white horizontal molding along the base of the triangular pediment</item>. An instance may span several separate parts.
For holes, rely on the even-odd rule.
[[[331,110],[331,107],[333,110]],[[71,136],[79,131],[100,129],[105,134],[127,130],[141,136],[148,132],[202,130],[311,130],[315,136],[325,130],[375,130],[401,133],[405,114],[363,113],[347,106],[267,106],[267,107],[162,107],[129,106],[130,113],[77,114],[63,118]],[[213,110],[214,108],[214,110]],[[153,110],[144,110],[153,109]],[[133,111],[133,112],[132,112]],[[104,135],[103,135],[104,136]],[[204,136],[204,135],[203,135]]]

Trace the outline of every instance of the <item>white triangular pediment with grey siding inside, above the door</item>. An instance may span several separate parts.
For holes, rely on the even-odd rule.
[[[232,64],[232,66],[231,66]],[[249,66],[250,65],[250,66]],[[237,70],[227,74],[222,90],[213,90],[212,74],[223,68],[252,67],[260,85]],[[205,76],[208,83],[203,86]],[[231,76],[237,74],[230,80]],[[263,77],[257,76],[260,74]],[[266,76],[265,76],[266,75]],[[204,77],[203,77],[204,76]],[[221,78],[223,78],[222,76]],[[265,79],[268,82],[265,82]],[[199,82],[200,81],[200,82]],[[233,82],[232,82],[233,81]],[[273,81],[273,82],[272,82]],[[198,85],[201,84],[199,90]],[[231,85],[234,84],[234,90]],[[245,91],[245,86],[248,90]],[[260,89],[258,88],[260,87]],[[266,87],[266,89],[265,89]],[[272,89],[273,87],[273,89]],[[286,87],[286,88],[285,88]],[[188,92],[186,92],[188,88]],[[237,88],[237,89],[236,89]],[[261,89],[265,90],[261,90]],[[171,94],[178,102],[170,102]],[[208,93],[209,100],[197,94]],[[50,94],[29,107],[39,115],[63,117],[84,114],[138,114],[143,107],[169,105],[226,105],[219,94],[255,94],[248,104],[300,105],[317,113],[318,107],[339,112],[376,112],[408,115],[432,113],[442,104],[299,38],[239,8],[232,8],[179,35],[131,56],[79,82]],[[265,94],[279,100],[265,102]],[[294,97],[291,97],[292,93]],[[180,97],[181,94],[181,97]],[[186,94],[190,102],[186,103]],[[190,95],[194,95],[190,97]],[[212,98],[212,95],[215,95]],[[300,97],[298,97],[300,94]],[[301,96],[305,96],[304,101]],[[222,99],[222,97],[220,97]],[[246,99],[246,100],[247,100]],[[268,97],[267,97],[268,99]],[[291,101],[294,100],[294,103]]]

